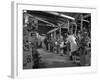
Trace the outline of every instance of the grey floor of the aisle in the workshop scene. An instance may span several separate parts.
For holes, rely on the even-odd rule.
[[[75,67],[78,64],[69,60],[68,56],[61,56],[44,49],[38,49],[41,56],[40,68]],[[24,69],[32,69],[32,62],[24,66]]]

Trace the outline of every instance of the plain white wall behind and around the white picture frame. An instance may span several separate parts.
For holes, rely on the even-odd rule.
[[[21,0],[20,0],[21,1]],[[99,0],[24,0],[31,1],[33,4],[52,4],[63,6],[85,6],[85,7],[97,7],[97,22],[98,26],[94,26],[95,40],[98,52],[98,71],[97,73],[90,74],[72,74],[63,76],[51,76],[35,78],[35,80],[99,80],[100,77],[100,63],[99,63],[99,30],[100,30],[100,1]],[[0,80],[11,80],[10,78],[10,65],[11,65],[11,0],[1,0],[0,2]],[[34,78],[33,78],[34,79]],[[33,80],[25,79],[25,80]],[[23,79],[22,79],[23,80]]]

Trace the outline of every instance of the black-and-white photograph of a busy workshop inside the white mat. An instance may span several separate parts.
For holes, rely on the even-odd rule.
[[[23,69],[91,66],[91,13],[23,10]]]

